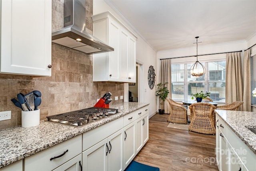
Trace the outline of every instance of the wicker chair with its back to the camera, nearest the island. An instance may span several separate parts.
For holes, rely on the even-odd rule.
[[[202,134],[215,134],[214,109],[216,106],[209,103],[194,103],[189,106],[190,125],[188,130]]]

